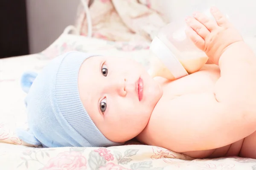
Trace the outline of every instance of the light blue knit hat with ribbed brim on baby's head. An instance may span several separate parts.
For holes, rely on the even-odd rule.
[[[29,129],[17,129],[20,139],[44,147],[108,147],[121,144],[103,136],[82,105],[78,74],[81,64],[91,56],[69,52],[53,59],[38,76],[30,74],[36,78],[32,79],[29,91],[26,88]]]

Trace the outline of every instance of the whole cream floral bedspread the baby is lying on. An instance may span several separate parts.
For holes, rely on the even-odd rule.
[[[133,57],[143,63],[149,44],[111,42],[62,34],[38,54],[0,59],[0,169],[1,170],[256,170],[255,159],[239,157],[192,159],[160,147],[128,142],[108,148],[24,146],[15,135],[26,127],[26,94],[20,88],[24,71],[40,71],[53,57],[67,51]],[[138,57],[140,56],[140,57]]]

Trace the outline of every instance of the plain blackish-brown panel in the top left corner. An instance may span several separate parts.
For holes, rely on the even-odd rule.
[[[26,0],[1,0],[0,58],[29,54]]]

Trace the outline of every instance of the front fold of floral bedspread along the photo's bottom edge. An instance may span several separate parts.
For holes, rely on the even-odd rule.
[[[255,170],[255,159],[194,159],[159,147],[31,148],[0,144],[1,170]]]

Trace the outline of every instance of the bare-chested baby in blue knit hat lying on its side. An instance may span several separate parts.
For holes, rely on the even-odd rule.
[[[24,142],[108,147],[137,138],[194,158],[256,158],[256,58],[218,11],[187,17],[186,34],[210,61],[175,81],[121,57],[69,52],[52,60],[26,97]]]

